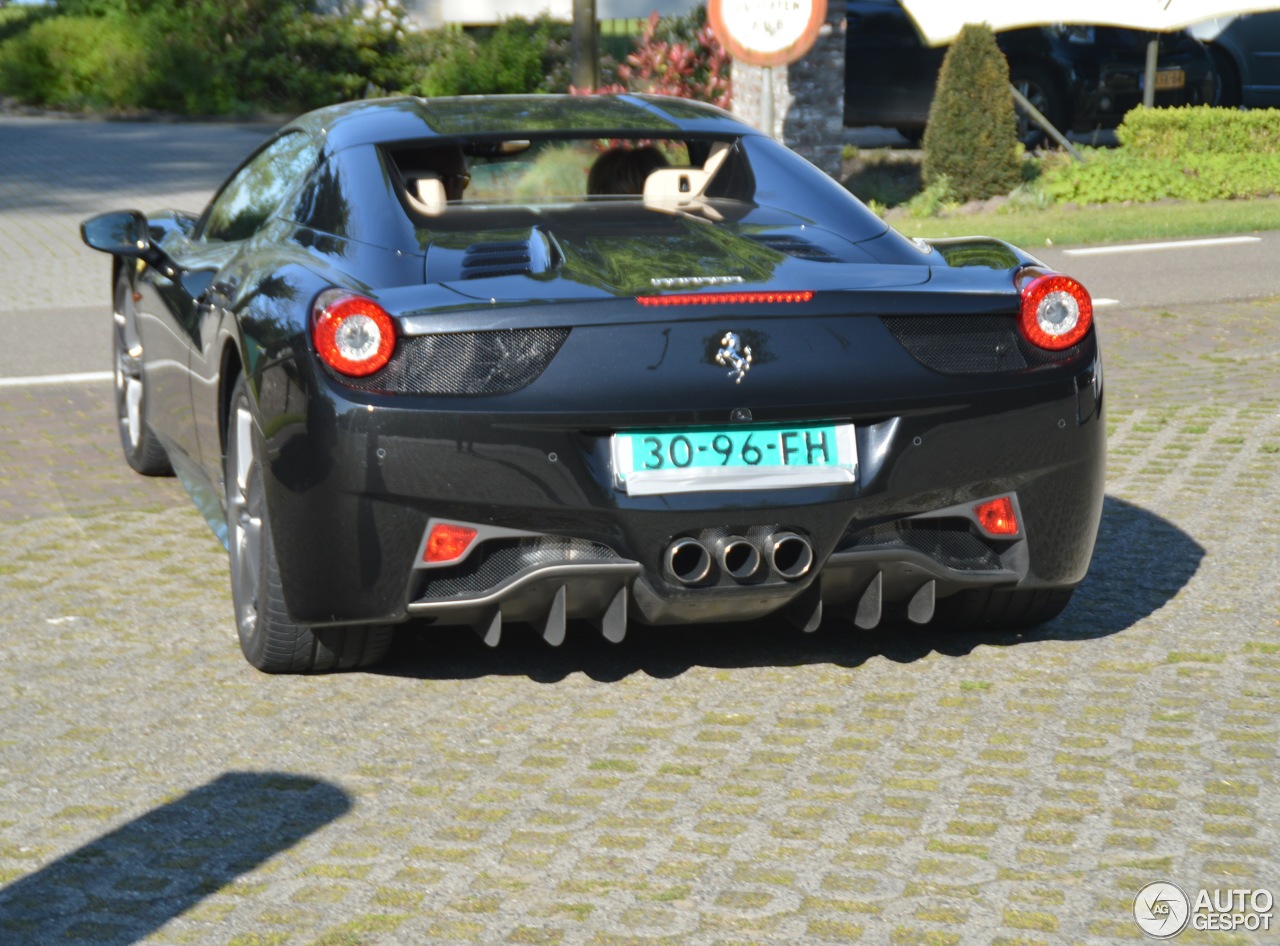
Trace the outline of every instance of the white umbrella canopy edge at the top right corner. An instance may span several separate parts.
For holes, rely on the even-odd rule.
[[[1088,23],[1156,33],[1240,13],[1280,9],[1280,0],[901,0],[925,42],[942,46],[965,23],[992,29]]]

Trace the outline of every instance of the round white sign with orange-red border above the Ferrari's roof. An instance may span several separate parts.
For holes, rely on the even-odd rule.
[[[813,49],[827,0],[710,0],[707,19],[733,59],[785,65]]]

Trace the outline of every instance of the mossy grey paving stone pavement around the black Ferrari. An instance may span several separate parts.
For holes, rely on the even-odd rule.
[[[1098,549],[1034,632],[420,629],[324,677],[243,662],[109,385],[0,388],[0,942],[1112,943],[1152,881],[1280,892],[1277,312],[1102,311]]]

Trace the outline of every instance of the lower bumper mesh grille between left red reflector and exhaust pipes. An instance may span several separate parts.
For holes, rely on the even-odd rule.
[[[608,545],[586,539],[541,536],[486,541],[454,568],[430,570],[422,599],[475,598],[522,572],[552,565],[613,565],[625,561]],[[436,577],[439,576],[439,577]]]

